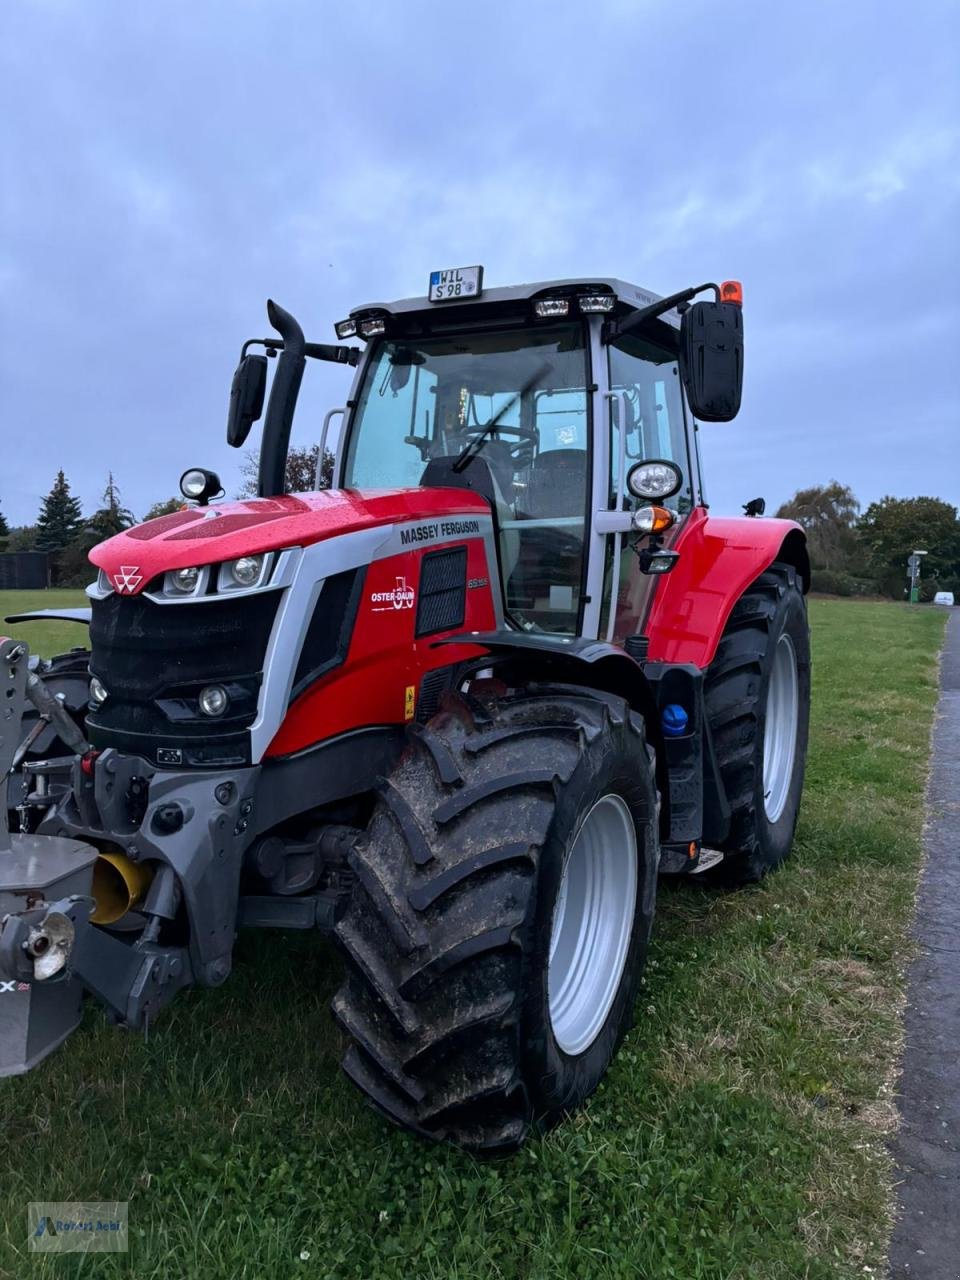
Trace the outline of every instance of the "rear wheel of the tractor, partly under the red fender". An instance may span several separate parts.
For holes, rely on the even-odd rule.
[[[716,878],[762,879],[794,844],[810,714],[810,634],[796,571],[774,563],[737,602],[704,680],[731,808]]]

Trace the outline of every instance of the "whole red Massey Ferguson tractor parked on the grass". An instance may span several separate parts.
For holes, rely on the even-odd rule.
[[[84,989],[143,1027],[238,928],[321,928],[351,1079],[507,1151],[607,1070],[658,874],[758,879],[794,838],[804,534],[710,516],[698,451],[740,404],[740,285],[470,268],[358,307],[364,347],[269,317],[228,422],[275,357],[260,497],[187,471],[191,506],[91,554],[88,654],[0,649],[0,1074]],[[333,486],[285,495],[308,358],[356,376]]]

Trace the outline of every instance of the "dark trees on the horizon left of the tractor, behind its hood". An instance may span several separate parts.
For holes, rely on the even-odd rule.
[[[287,457],[287,493],[307,493],[316,488],[316,470],[320,449],[292,448]],[[333,454],[324,452],[320,488],[329,488],[333,479]],[[256,497],[257,460],[247,453],[242,463],[242,485],[238,498]],[[156,502],[143,513],[143,520],[156,520],[179,511],[183,498]],[[83,515],[83,504],[70,492],[70,483],[63,470],[50,493],[41,499],[36,522],[10,529],[0,509],[0,554],[4,552],[46,552],[50,558],[51,586],[86,586],[91,577],[90,552],[97,543],[136,525],[132,511],[124,507],[120,489],[113,472],[108,474],[106,488],[100,506],[90,516]]]

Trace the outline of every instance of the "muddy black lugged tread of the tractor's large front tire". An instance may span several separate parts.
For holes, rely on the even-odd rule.
[[[538,867],[558,792],[602,735],[644,753],[653,778],[643,722],[620,699],[568,686],[483,704],[447,695],[351,851],[356,888],[335,929],[343,1066],[422,1137],[500,1155],[543,1114],[521,1034]]]

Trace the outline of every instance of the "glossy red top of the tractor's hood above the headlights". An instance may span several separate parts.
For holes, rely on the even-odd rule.
[[[157,573],[215,564],[283,547],[308,547],[372,525],[485,515],[486,502],[466,489],[326,489],[285,498],[192,507],[136,525],[100,543],[90,559],[136,595]]]

